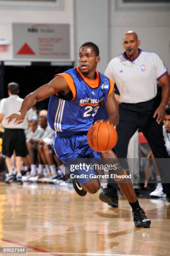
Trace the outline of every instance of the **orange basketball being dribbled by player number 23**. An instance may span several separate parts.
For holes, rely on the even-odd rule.
[[[95,123],[87,133],[89,146],[95,151],[109,151],[117,143],[117,131],[107,122]]]

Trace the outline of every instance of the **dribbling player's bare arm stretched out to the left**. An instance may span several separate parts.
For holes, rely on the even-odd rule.
[[[11,123],[15,118],[16,120],[14,124],[22,123],[27,111],[34,105],[36,105],[38,101],[44,100],[60,91],[68,93],[69,87],[66,80],[63,77],[57,76],[54,79],[52,79],[48,84],[44,84],[34,92],[28,94],[23,100],[23,104],[19,110],[19,113],[15,113],[13,115],[8,116],[8,123]]]

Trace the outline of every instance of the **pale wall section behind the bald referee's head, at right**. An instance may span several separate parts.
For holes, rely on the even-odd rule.
[[[115,8],[115,0],[110,3],[112,47],[109,59],[124,51],[123,35],[133,30],[141,41],[140,48],[156,52],[170,73],[170,9],[120,11]]]

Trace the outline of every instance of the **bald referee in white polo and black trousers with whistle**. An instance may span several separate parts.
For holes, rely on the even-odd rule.
[[[119,124],[116,145],[119,158],[127,158],[130,138],[140,128],[145,135],[156,159],[168,158],[162,134],[162,121],[165,106],[170,97],[170,82],[160,57],[149,51],[139,49],[137,34],[128,31],[123,38],[125,52],[112,59],[105,75],[112,79],[119,90]],[[157,82],[162,87],[162,99],[156,100]],[[167,177],[168,169],[157,161],[162,182]],[[170,198],[170,184],[162,184],[163,192]],[[100,199],[112,205],[115,188],[108,184],[108,190],[101,193]]]

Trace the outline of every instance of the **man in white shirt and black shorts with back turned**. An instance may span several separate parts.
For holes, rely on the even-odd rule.
[[[11,115],[14,111],[18,112],[22,105],[23,99],[18,96],[19,85],[15,82],[8,84],[8,98],[4,98],[0,102],[0,122],[5,129],[3,133],[3,155],[5,155],[5,163],[9,174],[6,177],[5,182],[11,183],[13,181],[13,165],[11,156],[15,151],[15,166],[17,169],[17,182],[22,184],[21,166],[22,157],[28,154],[26,146],[26,138],[24,130],[28,128],[28,120],[32,118],[32,109],[30,109],[24,119],[23,123],[14,125],[13,123],[8,124],[6,118]],[[28,119],[28,120],[27,120]]]

